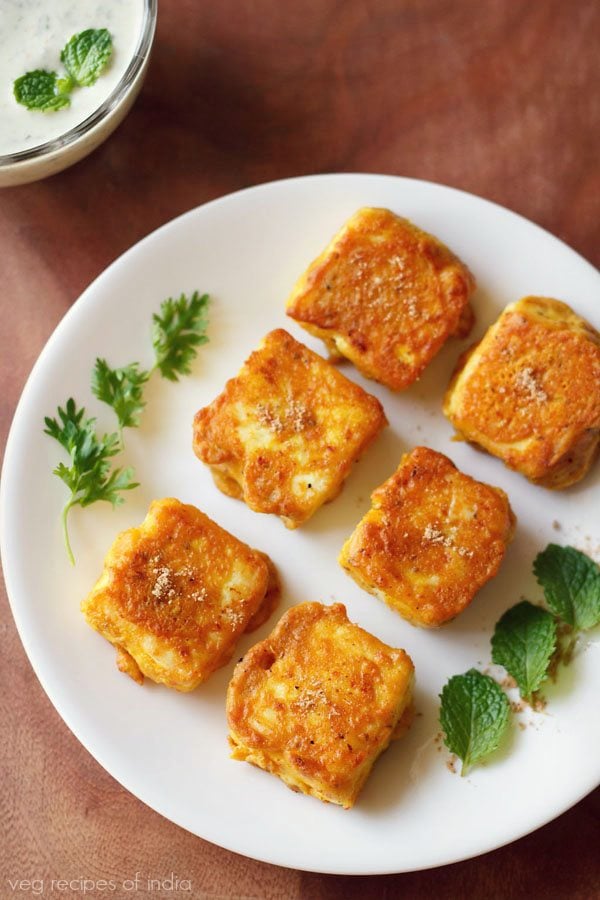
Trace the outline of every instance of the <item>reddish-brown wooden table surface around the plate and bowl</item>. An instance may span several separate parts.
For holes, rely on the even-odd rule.
[[[156,226],[245,185],[327,171],[430,179],[600,264],[599,45],[597,0],[160,0],[125,123],[73,169],[0,193],[2,446],[36,356],[83,288]],[[600,896],[599,791],[508,847],[407,875],[294,872],[187,834],[71,735],[1,599],[1,898],[22,896],[8,878],[44,878],[49,896],[52,878],[136,872],[173,872],[193,896],[228,900]]]

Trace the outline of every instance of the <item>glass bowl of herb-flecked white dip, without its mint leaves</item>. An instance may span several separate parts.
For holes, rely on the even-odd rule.
[[[122,121],[142,85],[156,0],[0,0],[0,186],[45,178],[90,153]],[[16,78],[34,69],[64,74],[60,53],[88,28],[106,28],[113,51],[71,105],[42,112],[15,100]]]

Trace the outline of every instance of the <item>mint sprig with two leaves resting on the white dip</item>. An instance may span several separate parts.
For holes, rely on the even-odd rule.
[[[87,28],[74,34],[60,54],[66,75],[34,69],[17,78],[13,94],[27,109],[56,112],[71,105],[74,87],[94,84],[112,54],[112,38],[106,28]]]

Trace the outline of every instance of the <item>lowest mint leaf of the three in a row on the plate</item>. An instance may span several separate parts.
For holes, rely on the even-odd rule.
[[[510,704],[499,685],[476,669],[454,675],[440,694],[444,743],[462,759],[462,775],[492,753],[508,725]]]

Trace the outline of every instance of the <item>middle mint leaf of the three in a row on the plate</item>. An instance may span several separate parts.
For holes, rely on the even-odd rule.
[[[528,600],[507,610],[496,623],[492,637],[492,660],[504,666],[530,699],[546,679],[556,647],[556,622],[541,606]]]

